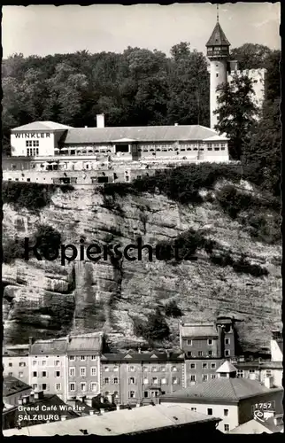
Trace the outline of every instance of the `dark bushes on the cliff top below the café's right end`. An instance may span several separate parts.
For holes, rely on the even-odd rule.
[[[223,180],[229,183],[215,190],[216,183]],[[241,180],[251,183],[254,189],[244,190],[239,185]],[[208,192],[203,196],[201,190]],[[156,171],[154,175],[144,175],[132,183],[108,183],[102,192],[104,198],[159,192],[181,205],[200,205],[210,201],[219,205],[229,217],[240,221],[252,238],[268,244],[281,239],[280,199],[268,190],[267,184],[263,187],[258,183],[257,186],[252,181],[250,165],[190,164]]]

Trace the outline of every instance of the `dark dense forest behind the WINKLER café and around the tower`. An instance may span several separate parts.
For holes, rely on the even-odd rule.
[[[222,132],[238,144],[230,153],[250,165],[255,182],[279,194],[281,124],[281,51],[246,43],[231,51],[240,69],[265,67],[266,102],[258,124],[244,113],[247,92],[226,104],[224,114],[240,114],[237,128],[223,121]],[[10,130],[35,120],[53,120],[73,127],[95,127],[104,113],[106,126],[210,126],[210,79],[207,58],[181,42],[170,56],[162,51],[128,47],[122,53],[14,54],[3,60],[4,154],[10,154]],[[250,90],[250,85],[249,89]],[[233,93],[233,91],[231,92]],[[245,101],[244,101],[244,100]],[[249,114],[249,113],[248,113]]]

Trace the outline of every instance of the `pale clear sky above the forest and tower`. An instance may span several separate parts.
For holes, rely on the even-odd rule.
[[[231,47],[259,43],[281,48],[281,4],[220,4],[220,25]],[[50,4],[3,6],[3,57],[13,53],[53,55],[88,50],[122,52],[127,46],[157,49],[189,42],[205,51],[216,23],[214,4]]]

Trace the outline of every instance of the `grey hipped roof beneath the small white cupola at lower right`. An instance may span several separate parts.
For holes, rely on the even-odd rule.
[[[167,393],[160,400],[242,400],[266,392],[280,391],[282,388],[268,389],[256,380],[249,378],[215,378],[208,382],[199,383]]]

